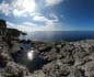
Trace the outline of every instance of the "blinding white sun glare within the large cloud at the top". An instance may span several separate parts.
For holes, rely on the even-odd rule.
[[[17,13],[34,12],[36,7],[34,0],[15,0],[12,4]]]

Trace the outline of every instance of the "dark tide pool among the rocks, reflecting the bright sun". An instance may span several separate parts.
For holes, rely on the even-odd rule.
[[[25,65],[31,72],[39,69],[44,61],[38,51],[33,47],[31,41],[21,41],[21,50],[12,54],[14,62]]]

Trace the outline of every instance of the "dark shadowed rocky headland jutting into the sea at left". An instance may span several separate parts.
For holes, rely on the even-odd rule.
[[[20,34],[26,35],[26,33],[24,33],[22,31],[19,31],[16,29],[9,29],[9,28],[7,28],[5,21],[0,19],[0,35],[3,36],[3,41],[8,42],[11,38],[20,36]]]

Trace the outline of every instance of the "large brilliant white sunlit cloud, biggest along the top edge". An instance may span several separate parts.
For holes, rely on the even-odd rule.
[[[34,0],[15,0],[12,2],[13,15],[21,16],[26,15],[25,13],[33,13],[36,10]]]

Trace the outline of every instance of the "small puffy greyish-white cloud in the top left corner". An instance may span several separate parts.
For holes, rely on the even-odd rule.
[[[2,1],[2,3],[0,3],[0,13],[3,13],[4,15],[9,15],[11,12],[11,7],[9,3],[7,3],[5,1]]]

